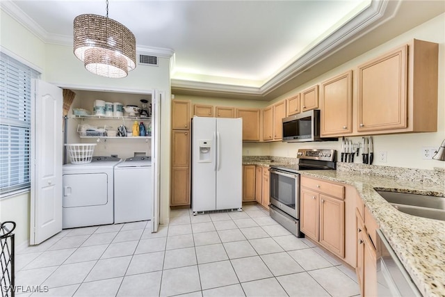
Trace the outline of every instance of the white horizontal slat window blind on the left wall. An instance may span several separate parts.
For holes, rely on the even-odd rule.
[[[39,73],[10,56],[0,59],[0,198],[31,185],[31,79]]]

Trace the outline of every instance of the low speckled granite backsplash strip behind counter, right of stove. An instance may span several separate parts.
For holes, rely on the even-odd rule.
[[[403,168],[391,166],[364,165],[360,163],[337,163],[337,170],[343,172],[354,172],[362,175],[378,175],[407,182],[424,182],[427,184],[444,184],[444,168],[434,170]]]

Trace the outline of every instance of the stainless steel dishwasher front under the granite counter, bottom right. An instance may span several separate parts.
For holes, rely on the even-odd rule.
[[[377,296],[422,296],[382,231],[377,230]]]

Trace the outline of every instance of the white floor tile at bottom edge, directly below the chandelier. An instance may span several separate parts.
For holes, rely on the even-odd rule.
[[[123,278],[83,282],[74,297],[116,296]]]

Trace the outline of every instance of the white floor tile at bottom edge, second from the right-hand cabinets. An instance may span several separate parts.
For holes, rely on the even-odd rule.
[[[330,296],[327,291],[306,272],[279,276],[277,280],[291,297]]]

